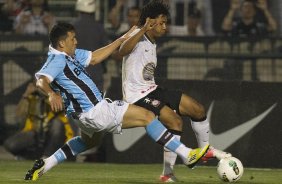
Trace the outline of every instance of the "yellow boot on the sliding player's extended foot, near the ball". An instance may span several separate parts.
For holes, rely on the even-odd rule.
[[[187,161],[185,164],[189,168],[193,168],[198,163],[198,161],[207,153],[209,147],[210,145],[207,144],[202,148],[192,149],[187,157]]]

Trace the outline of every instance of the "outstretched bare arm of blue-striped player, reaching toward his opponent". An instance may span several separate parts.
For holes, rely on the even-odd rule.
[[[97,49],[92,52],[92,58],[90,64],[95,65],[102,62],[104,59],[109,57],[126,39],[129,35],[136,29],[136,26],[133,26],[127,33],[125,33],[120,38],[116,39],[114,42]]]

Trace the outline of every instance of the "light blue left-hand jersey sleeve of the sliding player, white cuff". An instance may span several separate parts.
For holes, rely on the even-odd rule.
[[[51,82],[63,72],[66,62],[64,55],[50,55],[46,63],[35,74],[36,79],[40,76],[46,76]]]

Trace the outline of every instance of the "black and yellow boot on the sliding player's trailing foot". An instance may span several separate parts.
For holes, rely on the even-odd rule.
[[[43,175],[45,162],[43,159],[36,160],[33,164],[33,167],[27,171],[25,175],[25,180],[37,180],[40,176]]]

